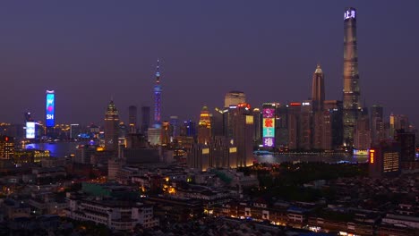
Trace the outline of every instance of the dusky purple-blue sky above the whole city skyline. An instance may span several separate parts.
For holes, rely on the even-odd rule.
[[[9,1],[0,5],[0,122],[102,123],[113,97],[197,119],[243,90],[252,106],[311,96],[318,62],[326,98],[342,99],[344,9],[357,9],[362,99],[419,125],[419,1]]]

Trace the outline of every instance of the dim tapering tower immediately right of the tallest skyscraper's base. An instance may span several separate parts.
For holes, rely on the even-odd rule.
[[[356,121],[354,147],[356,150],[367,150],[371,147],[370,119],[366,108],[363,108]]]

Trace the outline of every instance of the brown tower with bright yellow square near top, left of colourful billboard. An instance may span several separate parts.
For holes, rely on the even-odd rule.
[[[234,145],[237,147],[237,166],[253,164],[253,115],[251,106],[241,103],[231,109]]]

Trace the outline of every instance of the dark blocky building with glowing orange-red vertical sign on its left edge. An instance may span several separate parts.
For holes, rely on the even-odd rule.
[[[394,177],[400,173],[400,147],[397,142],[384,142],[372,146],[368,172],[372,178]]]

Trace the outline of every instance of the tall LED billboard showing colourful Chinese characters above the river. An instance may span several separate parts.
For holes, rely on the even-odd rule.
[[[266,106],[262,110],[262,144],[263,147],[275,147],[275,108],[270,104]]]

